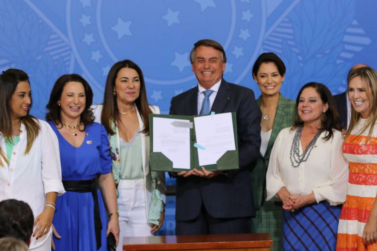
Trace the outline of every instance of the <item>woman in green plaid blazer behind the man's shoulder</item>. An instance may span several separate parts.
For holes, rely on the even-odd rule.
[[[256,216],[253,218],[252,232],[268,232],[273,240],[271,250],[281,250],[281,202],[266,201],[266,172],[273,143],[277,134],[291,127],[296,118],[295,101],[280,93],[286,74],[284,62],[274,53],[262,53],[254,63],[253,78],[261,91],[256,100],[261,111],[261,147],[258,159],[251,169],[251,184]]]

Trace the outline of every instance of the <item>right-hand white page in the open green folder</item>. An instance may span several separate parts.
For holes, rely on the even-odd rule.
[[[195,117],[194,122],[200,166],[216,164],[226,151],[236,150],[232,113]]]

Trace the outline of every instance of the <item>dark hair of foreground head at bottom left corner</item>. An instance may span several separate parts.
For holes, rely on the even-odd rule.
[[[0,238],[11,236],[29,244],[33,224],[33,211],[27,203],[15,199],[0,202]]]

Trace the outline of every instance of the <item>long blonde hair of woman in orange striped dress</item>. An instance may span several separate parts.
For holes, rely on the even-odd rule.
[[[361,131],[359,132],[359,135],[361,135],[369,128],[368,136],[366,140],[368,141],[373,132],[375,122],[377,121],[377,72],[375,72],[375,70],[373,70],[369,66],[361,67],[354,71],[351,71],[348,74],[348,79],[347,79],[347,82],[348,82],[347,95],[349,91],[349,82],[357,76],[361,78],[361,81],[365,84],[365,87],[367,87],[367,85],[370,87],[371,96],[372,96],[372,98],[368,100],[369,101],[369,116],[366,118],[366,122],[364,126],[361,128]],[[365,88],[365,92],[366,92],[366,95],[369,97],[370,93],[368,91],[368,88]],[[358,123],[360,118],[361,118],[361,114],[355,111],[353,105],[351,105],[351,119],[349,122],[349,127],[348,127],[346,137],[356,127],[356,124]]]

